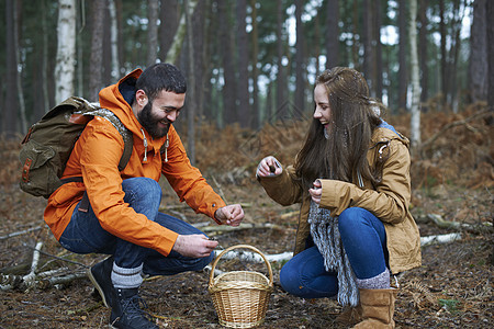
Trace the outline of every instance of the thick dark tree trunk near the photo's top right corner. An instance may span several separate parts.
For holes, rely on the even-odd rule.
[[[469,90],[473,103],[487,100],[487,2],[490,1],[473,2],[469,61]]]

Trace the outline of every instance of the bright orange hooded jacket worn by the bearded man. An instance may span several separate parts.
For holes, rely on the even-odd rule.
[[[100,91],[101,107],[112,111],[133,133],[134,148],[123,171],[117,164],[124,143],[121,134],[105,118],[91,120],[76,143],[63,178],[82,177],[83,183],[66,183],[48,198],[44,213],[46,224],[58,240],[70,222],[72,212],[88,192],[89,202],[103,229],[135,245],[151,248],[167,256],[178,234],[137,214],[124,203],[122,181],[128,178],[149,178],[159,181],[166,177],[180,201],[197,213],[214,218],[214,212],[225,206],[224,201],[206,183],[201,172],[191,166],[186,149],[173,126],[168,132],[167,158],[160,148],[166,137],[153,139],[135,117],[126,97],[134,93],[135,80],[142,73],[136,69],[116,84]],[[147,147],[145,146],[147,140]]]

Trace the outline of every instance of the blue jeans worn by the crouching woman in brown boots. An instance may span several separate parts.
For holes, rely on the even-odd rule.
[[[341,243],[358,279],[381,274],[388,264],[383,223],[370,212],[350,207],[338,217]],[[313,245],[310,239],[310,245]],[[303,298],[333,297],[338,293],[336,272],[327,272],[316,246],[294,256],[280,272],[282,287]]]

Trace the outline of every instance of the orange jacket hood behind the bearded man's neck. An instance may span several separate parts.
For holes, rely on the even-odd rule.
[[[141,125],[132,111],[136,92],[135,83],[142,72],[142,69],[135,69],[123,77],[117,83],[103,88],[99,93],[100,106],[112,111],[124,126],[134,134],[134,139],[138,136],[149,148],[159,151],[167,137],[154,139]],[[172,127],[170,127],[171,129]]]

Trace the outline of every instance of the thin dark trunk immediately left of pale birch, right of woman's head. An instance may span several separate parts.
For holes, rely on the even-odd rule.
[[[406,67],[406,45],[408,42],[406,39],[406,3],[405,0],[400,0],[400,12],[398,12],[398,27],[400,27],[400,45],[398,45],[398,109],[406,110],[406,91],[408,84],[407,78],[407,67]]]

